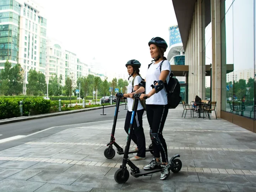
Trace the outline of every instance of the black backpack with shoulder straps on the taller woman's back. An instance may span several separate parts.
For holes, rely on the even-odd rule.
[[[164,62],[164,60],[160,64],[160,73],[161,73],[163,62]],[[152,63],[150,63],[148,65],[148,69],[149,69],[151,64]],[[180,82],[178,82],[178,80],[176,78],[173,78],[173,76],[174,76],[174,74],[170,73],[170,79],[169,79],[168,84],[167,84],[166,81],[164,83],[165,90],[167,92],[167,101],[168,101],[168,108],[169,109],[175,109],[178,106],[178,104],[181,102]]]

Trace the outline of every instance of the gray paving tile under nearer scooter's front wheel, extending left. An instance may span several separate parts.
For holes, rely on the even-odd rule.
[[[100,182],[99,182],[100,181]],[[103,188],[109,190],[120,190],[123,184],[118,184],[113,177],[94,175],[83,175],[76,180],[72,186]]]

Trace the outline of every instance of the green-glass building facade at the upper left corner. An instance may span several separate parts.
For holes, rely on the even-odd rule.
[[[14,0],[1,0],[0,10],[11,10],[0,13],[0,59],[14,64],[19,54],[20,5]]]

